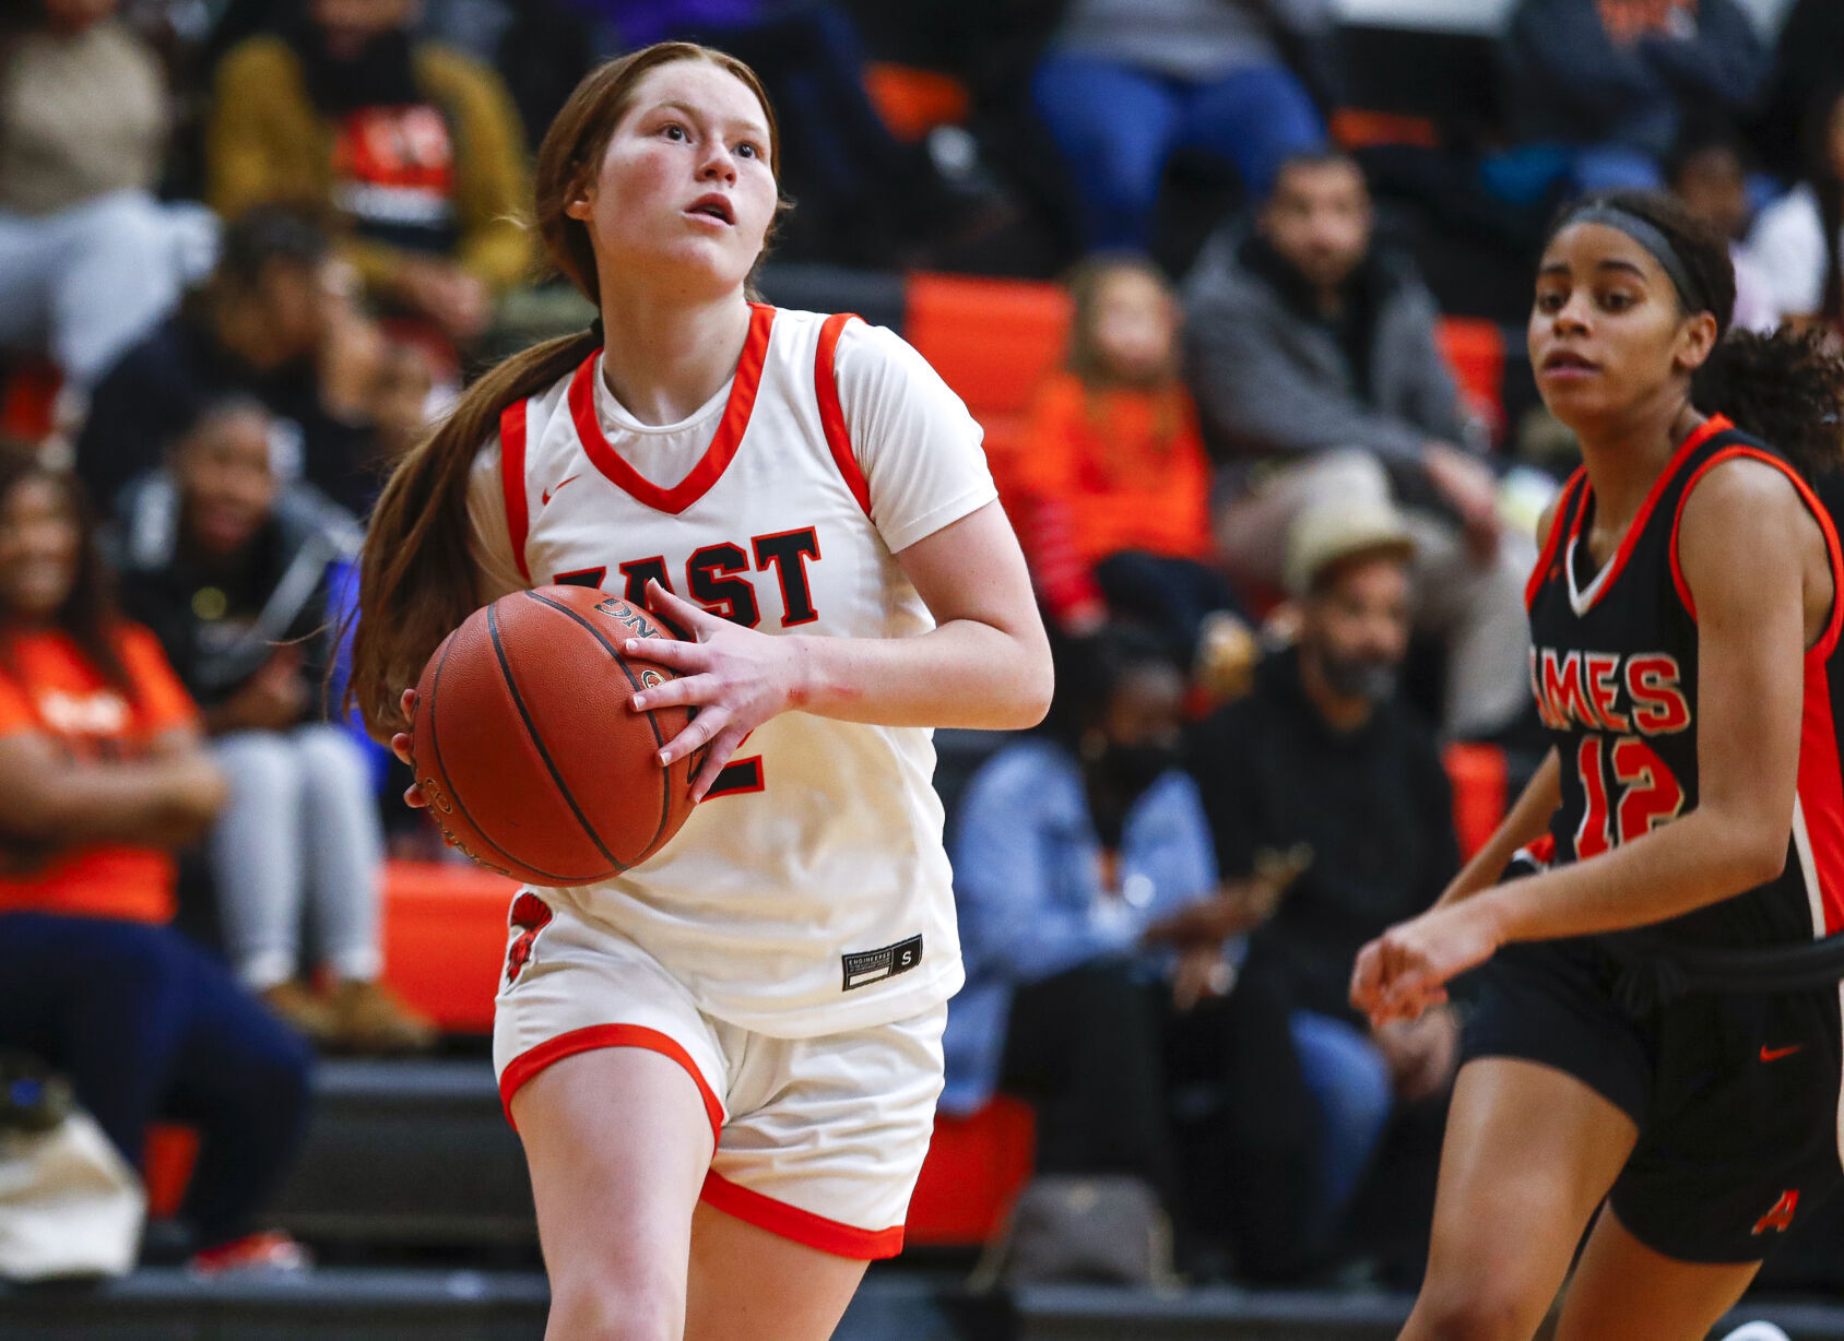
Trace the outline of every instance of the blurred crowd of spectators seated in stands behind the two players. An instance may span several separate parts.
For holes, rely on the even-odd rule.
[[[251,1230],[313,1050],[435,1042],[380,889],[441,849],[326,710],[356,542],[474,371],[592,315],[533,273],[531,153],[666,37],[776,100],[778,262],[1068,286],[990,454],[1060,668],[944,786],[944,1110],[1029,1099],[1040,1175],[1141,1181],[1193,1276],[1413,1280],[1455,1015],[1372,1031],[1344,979],[1457,871],[1442,747],[1536,762],[1571,450],[1462,397],[1429,247],[1486,238],[1492,315],[1560,201],[1663,186],[1733,240],[1741,323],[1844,323],[1835,0],[1778,46],[1737,0],[1521,0],[1492,114],[1409,144],[1333,135],[1330,0],[9,0],[0,1050],[129,1164],[199,1129],[201,1267],[299,1262]],[[896,66],[959,114],[907,125]]]

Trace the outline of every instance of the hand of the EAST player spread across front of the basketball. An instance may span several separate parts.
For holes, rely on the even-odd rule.
[[[798,644],[719,620],[656,581],[647,583],[647,609],[690,629],[693,640],[627,642],[621,651],[629,657],[645,657],[679,671],[679,679],[636,694],[632,705],[636,712],[668,705],[697,706],[692,725],[660,749],[660,764],[669,767],[708,745],[692,778],[692,801],[703,801],[743,738],[793,703]]]

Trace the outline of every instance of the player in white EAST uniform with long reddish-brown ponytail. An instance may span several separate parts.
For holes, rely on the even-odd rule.
[[[1049,697],[961,402],[889,332],[749,301],[774,164],[727,55],[588,76],[537,225],[597,328],[481,378],[363,557],[352,682],[380,730],[520,587],[695,635],[649,644],[684,679],[634,705],[699,705],[662,756],[710,747],[703,804],[642,867],[513,906],[494,1053],[572,1341],[824,1337],[898,1251],[961,983],[922,727],[1025,727]]]

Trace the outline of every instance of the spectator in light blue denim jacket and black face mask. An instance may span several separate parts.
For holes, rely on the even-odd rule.
[[[1228,1051],[1291,1064],[1283,1020],[1269,1016],[1263,1048],[1248,998],[1213,1003],[1234,981],[1247,891],[1217,889],[1178,767],[1184,692],[1156,642],[1105,627],[1062,647],[1049,730],[968,782],[952,843],[966,987],[940,1099],[970,1112],[996,1088],[1031,1098],[1040,1171],[1138,1175],[1180,1230],[1228,1197],[1221,1169],[1180,1168],[1175,1088],[1213,1085]],[[1219,1127],[1259,1105],[1272,1129],[1300,1129],[1265,1092],[1230,1099]],[[1221,1155],[1237,1138],[1206,1144]]]

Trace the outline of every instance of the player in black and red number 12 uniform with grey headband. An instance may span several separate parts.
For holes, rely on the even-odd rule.
[[[1352,979],[1413,1018],[1490,959],[1407,1337],[1529,1337],[1590,1219],[1558,1337],[1702,1337],[1844,1181],[1844,566],[1813,492],[1844,367],[1728,332],[1733,299],[1660,196],[1543,253],[1531,363],[1586,461],[1529,585],[1554,749]]]

